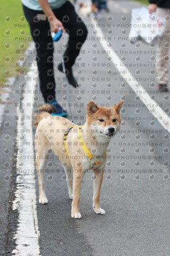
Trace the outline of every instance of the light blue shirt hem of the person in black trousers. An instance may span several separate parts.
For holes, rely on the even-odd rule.
[[[21,0],[21,2],[29,9],[42,11],[42,8],[39,5],[38,0]],[[52,9],[60,8],[66,2],[67,0],[48,0],[48,3]]]

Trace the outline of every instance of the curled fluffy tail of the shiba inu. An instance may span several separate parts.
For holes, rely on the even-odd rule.
[[[38,126],[39,122],[50,114],[56,111],[56,107],[52,104],[44,104],[34,111],[32,116],[32,123],[35,127]]]

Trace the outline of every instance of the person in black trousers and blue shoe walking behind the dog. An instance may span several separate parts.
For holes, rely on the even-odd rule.
[[[67,29],[69,41],[63,54],[67,81],[77,87],[72,73],[72,66],[78,57],[81,46],[87,37],[87,28],[78,18],[74,6],[67,0],[21,0],[25,18],[28,20],[33,41],[36,43],[37,65],[39,70],[40,90],[45,102],[55,105],[53,115],[67,116],[66,111],[57,103],[54,79],[54,42],[50,30],[57,33]],[[78,33],[81,31],[81,33]],[[58,70],[63,71],[62,62]]]

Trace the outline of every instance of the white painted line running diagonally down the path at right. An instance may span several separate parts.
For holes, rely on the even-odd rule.
[[[93,21],[93,23],[97,23]],[[97,26],[98,29],[98,36],[101,38],[104,38],[104,34],[102,30]],[[107,52],[107,45],[109,44],[107,41],[99,41],[103,49]],[[164,113],[164,110],[158,106],[158,103],[155,100],[149,101],[149,94],[147,91],[140,85],[140,87],[137,86],[137,83],[139,82],[133,77],[133,75],[130,73],[128,68],[124,66],[124,64],[121,62],[118,55],[115,53],[115,51],[112,48],[109,48],[109,55],[112,55],[112,63],[119,71],[120,75],[127,79],[126,83],[129,84],[129,86],[132,88],[132,90],[139,95],[141,98],[141,101],[145,103],[146,107],[149,109],[149,113],[154,115],[157,119],[157,121],[164,127],[165,130],[167,130],[170,133],[170,118],[169,116]]]

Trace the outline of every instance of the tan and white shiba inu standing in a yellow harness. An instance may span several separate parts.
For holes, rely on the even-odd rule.
[[[39,203],[48,203],[44,188],[44,171],[49,150],[53,150],[63,163],[69,196],[73,199],[71,217],[81,219],[79,211],[81,181],[84,173],[90,169],[94,170],[96,177],[93,208],[95,213],[105,214],[100,207],[100,189],[107,147],[121,127],[120,111],[123,102],[113,107],[98,107],[90,101],[87,106],[86,123],[83,126],[72,125],[66,118],[50,115],[55,111],[53,105],[44,104],[37,109],[33,115],[33,125],[37,127],[35,165],[39,177]]]

